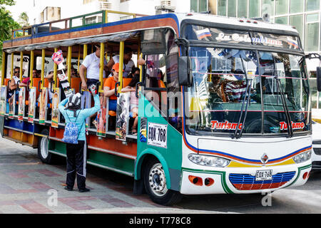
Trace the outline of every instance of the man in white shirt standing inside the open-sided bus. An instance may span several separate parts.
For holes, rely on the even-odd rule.
[[[101,68],[101,46],[100,44],[95,44],[96,51],[86,56],[79,68],[79,76],[81,78],[81,88],[86,90],[89,86],[98,83],[99,81],[99,68]],[[103,58],[103,78],[106,77],[107,61],[106,58]],[[87,82],[85,80],[85,71],[87,70]]]

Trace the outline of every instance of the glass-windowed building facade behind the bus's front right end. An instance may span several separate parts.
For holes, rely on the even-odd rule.
[[[193,1],[193,0],[191,0]],[[216,14],[220,16],[258,18],[295,26],[306,53],[321,55],[320,0],[216,0]],[[318,59],[307,60],[312,95],[312,118],[321,120],[321,93],[317,91]]]

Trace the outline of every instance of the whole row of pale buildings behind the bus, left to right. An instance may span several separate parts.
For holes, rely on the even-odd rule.
[[[295,26],[300,33],[306,53],[321,54],[321,0],[33,0],[34,9],[30,24],[65,19],[95,11],[113,10],[135,14],[159,14],[156,6],[163,6],[179,13],[206,12],[219,16],[260,18],[270,22]],[[130,19],[132,16],[108,16],[108,21]],[[88,23],[99,22],[99,16],[86,18]],[[321,120],[321,93],[316,88],[317,59],[307,60],[307,71],[312,90],[312,116]]]

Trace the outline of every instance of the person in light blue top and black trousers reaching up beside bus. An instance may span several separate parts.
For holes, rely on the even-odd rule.
[[[77,176],[77,185],[79,192],[88,192],[86,188],[86,128],[85,121],[88,116],[95,114],[101,109],[101,103],[99,96],[96,94],[95,86],[91,86],[91,93],[93,94],[93,100],[95,105],[93,108],[81,109],[81,94],[76,93],[71,95],[59,103],[58,108],[66,120],[66,123],[76,123],[78,127],[78,144],[66,143],[67,153],[67,178],[66,187],[68,191],[73,190],[75,179]],[[66,107],[65,107],[66,105]]]

